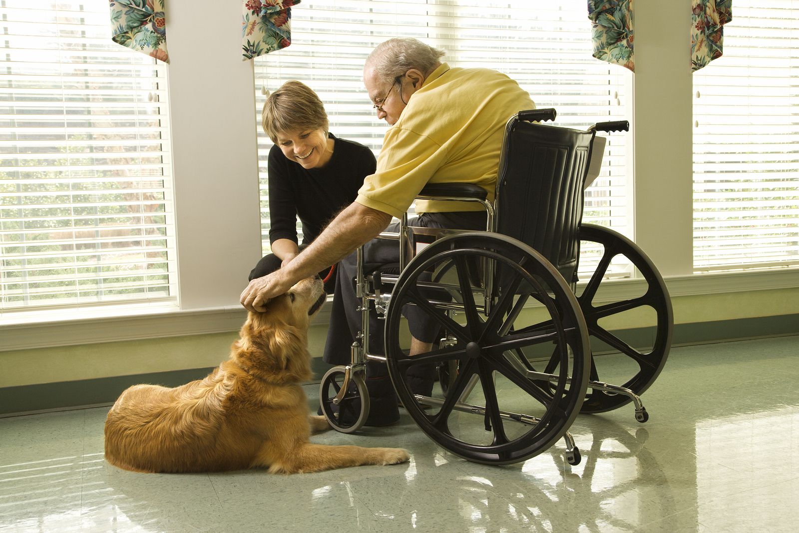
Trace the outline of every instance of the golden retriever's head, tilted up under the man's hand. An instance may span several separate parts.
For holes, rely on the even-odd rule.
[[[313,276],[269,300],[264,312],[249,312],[241,338],[233,344],[233,358],[270,381],[308,380],[308,326],[324,300],[324,284]]]

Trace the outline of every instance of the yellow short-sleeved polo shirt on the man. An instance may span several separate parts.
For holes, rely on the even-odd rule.
[[[435,69],[388,129],[356,201],[401,217],[427,183],[471,183],[493,200],[507,120],[535,109],[530,94],[490,69]],[[474,202],[417,201],[416,213],[478,211]]]

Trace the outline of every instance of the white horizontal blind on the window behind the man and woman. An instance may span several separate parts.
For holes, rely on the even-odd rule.
[[[629,118],[629,71],[591,57],[585,2],[479,0],[303,0],[292,8],[292,45],[256,58],[261,221],[268,252],[266,161],[272,143],[261,131],[262,87],[290,79],[324,101],[336,136],[380,151],[388,125],[379,121],[363,86],[368,54],[392,37],[413,37],[446,51],[450,66],[489,67],[514,78],[539,108],[555,107],[557,125],[585,129]],[[625,134],[614,134],[605,167],[586,195],[585,221],[630,233]]]

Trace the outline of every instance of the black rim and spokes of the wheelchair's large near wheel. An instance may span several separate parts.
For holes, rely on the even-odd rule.
[[[505,253],[498,253],[495,250],[503,250]],[[509,252],[512,252],[512,255],[520,255],[519,261],[517,262],[509,259],[511,256]],[[451,355],[453,352],[463,352],[463,356],[459,357],[459,360],[462,361],[462,370],[455,379],[451,391],[447,394],[447,397],[445,397],[445,404],[439,409],[439,412],[428,415],[424,409],[419,406],[415,396],[413,396],[411,391],[407,388],[407,384],[403,379],[404,368],[400,368],[400,366],[405,367],[410,366],[410,364],[401,363],[400,359],[407,361],[412,358],[405,356],[399,344],[400,317],[403,305],[411,301],[412,296],[410,296],[409,293],[413,292],[415,281],[429,266],[437,262],[449,261],[450,259],[452,259],[453,263],[457,261],[455,268],[458,272],[462,294],[472,294],[473,288],[471,284],[468,283],[468,280],[465,280],[467,276],[461,276],[461,271],[466,266],[463,262],[463,258],[470,254],[488,257],[499,264],[504,264],[511,268],[511,271],[514,272],[514,283],[516,287],[522,282],[526,282],[539,293],[539,296],[540,294],[546,294],[547,292],[544,291],[542,285],[535,279],[535,276],[539,276],[546,282],[550,292],[554,294],[554,300],[551,300],[548,296],[541,299],[547,306],[551,317],[559,313],[562,315],[561,320],[552,320],[553,324],[555,324],[555,333],[549,335],[549,342],[553,342],[553,338],[557,339],[559,345],[562,346],[562,349],[557,351],[561,353],[563,360],[568,360],[570,356],[567,348],[572,348],[574,353],[572,375],[568,376],[571,378],[568,389],[566,390],[566,370],[560,372],[558,384],[554,387],[554,395],[558,397],[557,401],[551,398],[547,399],[547,393],[544,392],[539,385],[529,380],[527,375],[523,375],[519,370],[508,363],[507,353],[510,352],[510,350],[493,348],[494,352],[501,354],[497,356],[481,348],[479,356],[465,355],[467,343],[464,342],[464,340],[467,336],[472,337],[471,343],[476,343],[476,341],[481,340],[483,336],[493,337],[493,340],[485,339],[491,341],[487,343],[489,345],[499,342],[499,336],[497,335],[499,333],[499,328],[502,328],[503,320],[505,320],[505,313],[511,311],[511,304],[514,300],[514,298],[511,297],[510,299],[504,298],[504,300],[507,301],[503,301],[503,296],[499,296],[494,311],[492,311],[491,315],[482,323],[489,324],[484,328],[484,330],[490,330],[488,333],[484,335],[483,331],[478,331],[477,329],[473,329],[471,332],[465,332],[461,331],[461,328],[458,328],[459,331],[456,333],[456,336],[459,335],[461,338],[455,347],[444,348],[443,352],[441,350],[438,351],[445,357],[448,353],[450,355],[449,359],[452,359]],[[461,259],[457,259],[458,257],[461,257]],[[419,297],[419,295],[416,295],[414,301],[418,301]],[[463,330],[468,330],[470,328],[468,324],[472,320],[477,320],[475,327],[481,324],[481,319],[478,318],[476,314],[477,311],[474,307],[473,295],[470,296],[469,300],[471,300],[471,302],[464,302],[467,326],[463,327]],[[432,308],[431,305],[430,307]],[[505,307],[505,309],[503,309],[503,307]],[[495,316],[498,309],[499,315]],[[447,325],[452,328],[452,324],[455,324],[455,322],[450,319],[450,323]],[[568,334],[566,334],[566,332],[568,332]],[[524,335],[524,333],[521,335]],[[507,333],[503,336],[507,336]],[[533,336],[528,337],[528,339],[535,338],[535,340],[540,340],[541,337],[540,332],[534,332]],[[519,336],[516,336],[515,340],[519,341],[518,344],[520,347],[538,344],[533,342],[524,344],[526,339],[520,338]],[[435,440],[437,444],[455,455],[478,463],[517,463],[529,459],[534,455],[538,455],[542,451],[546,451],[552,444],[555,444],[555,441],[562,438],[570,428],[574,418],[578,415],[580,405],[585,397],[588,382],[590,348],[588,345],[587,328],[582,320],[582,313],[579,311],[574,293],[571,292],[566,281],[563,280],[555,267],[544,259],[543,256],[535,252],[535,250],[531,249],[529,246],[524,245],[522,242],[498,233],[481,232],[451,235],[439,239],[439,241],[435,241],[435,243],[427,246],[414,257],[410,264],[407,265],[407,268],[400,274],[394,292],[392,293],[392,299],[386,317],[385,343],[389,376],[391,376],[397,395],[400,396],[400,400],[402,400],[407,412],[415,420],[416,424],[419,425],[419,428],[427,433],[427,436],[430,436],[432,440]],[[566,369],[568,365],[563,364],[561,368]],[[491,431],[494,433],[492,444],[481,446],[479,444],[471,444],[459,440],[457,437],[453,436],[449,428],[447,428],[447,420],[453,411],[452,404],[454,404],[456,400],[454,396],[459,396],[468,378],[476,374],[479,376],[479,382],[483,386],[484,395],[486,397],[491,396],[495,399],[496,392],[493,381],[491,380],[491,372],[493,371],[498,371],[503,374],[503,376],[517,387],[525,387],[527,390],[525,388],[522,390],[523,392],[527,392],[528,395],[534,398],[538,396],[536,399],[539,400],[541,404],[545,405],[547,410],[541,417],[539,423],[531,426],[530,430],[524,432],[523,435],[515,439],[508,439],[507,436],[504,435],[503,422],[499,417],[498,406],[495,402],[493,405],[487,402],[487,404],[489,404],[485,406],[487,418],[491,419]],[[450,398],[450,396],[453,397]],[[447,398],[449,400],[447,400]],[[549,401],[549,404],[546,404],[543,400]],[[439,416],[445,409],[448,409],[445,415],[443,417]],[[498,422],[500,428],[499,434],[497,432]]]

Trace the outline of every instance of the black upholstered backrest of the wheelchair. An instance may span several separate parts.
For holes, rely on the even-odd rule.
[[[573,281],[594,132],[528,122],[525,119],[540,118],[523,113],[512,117],[505,129],[496,189],[497,231],[531,246],[566,281]]]

